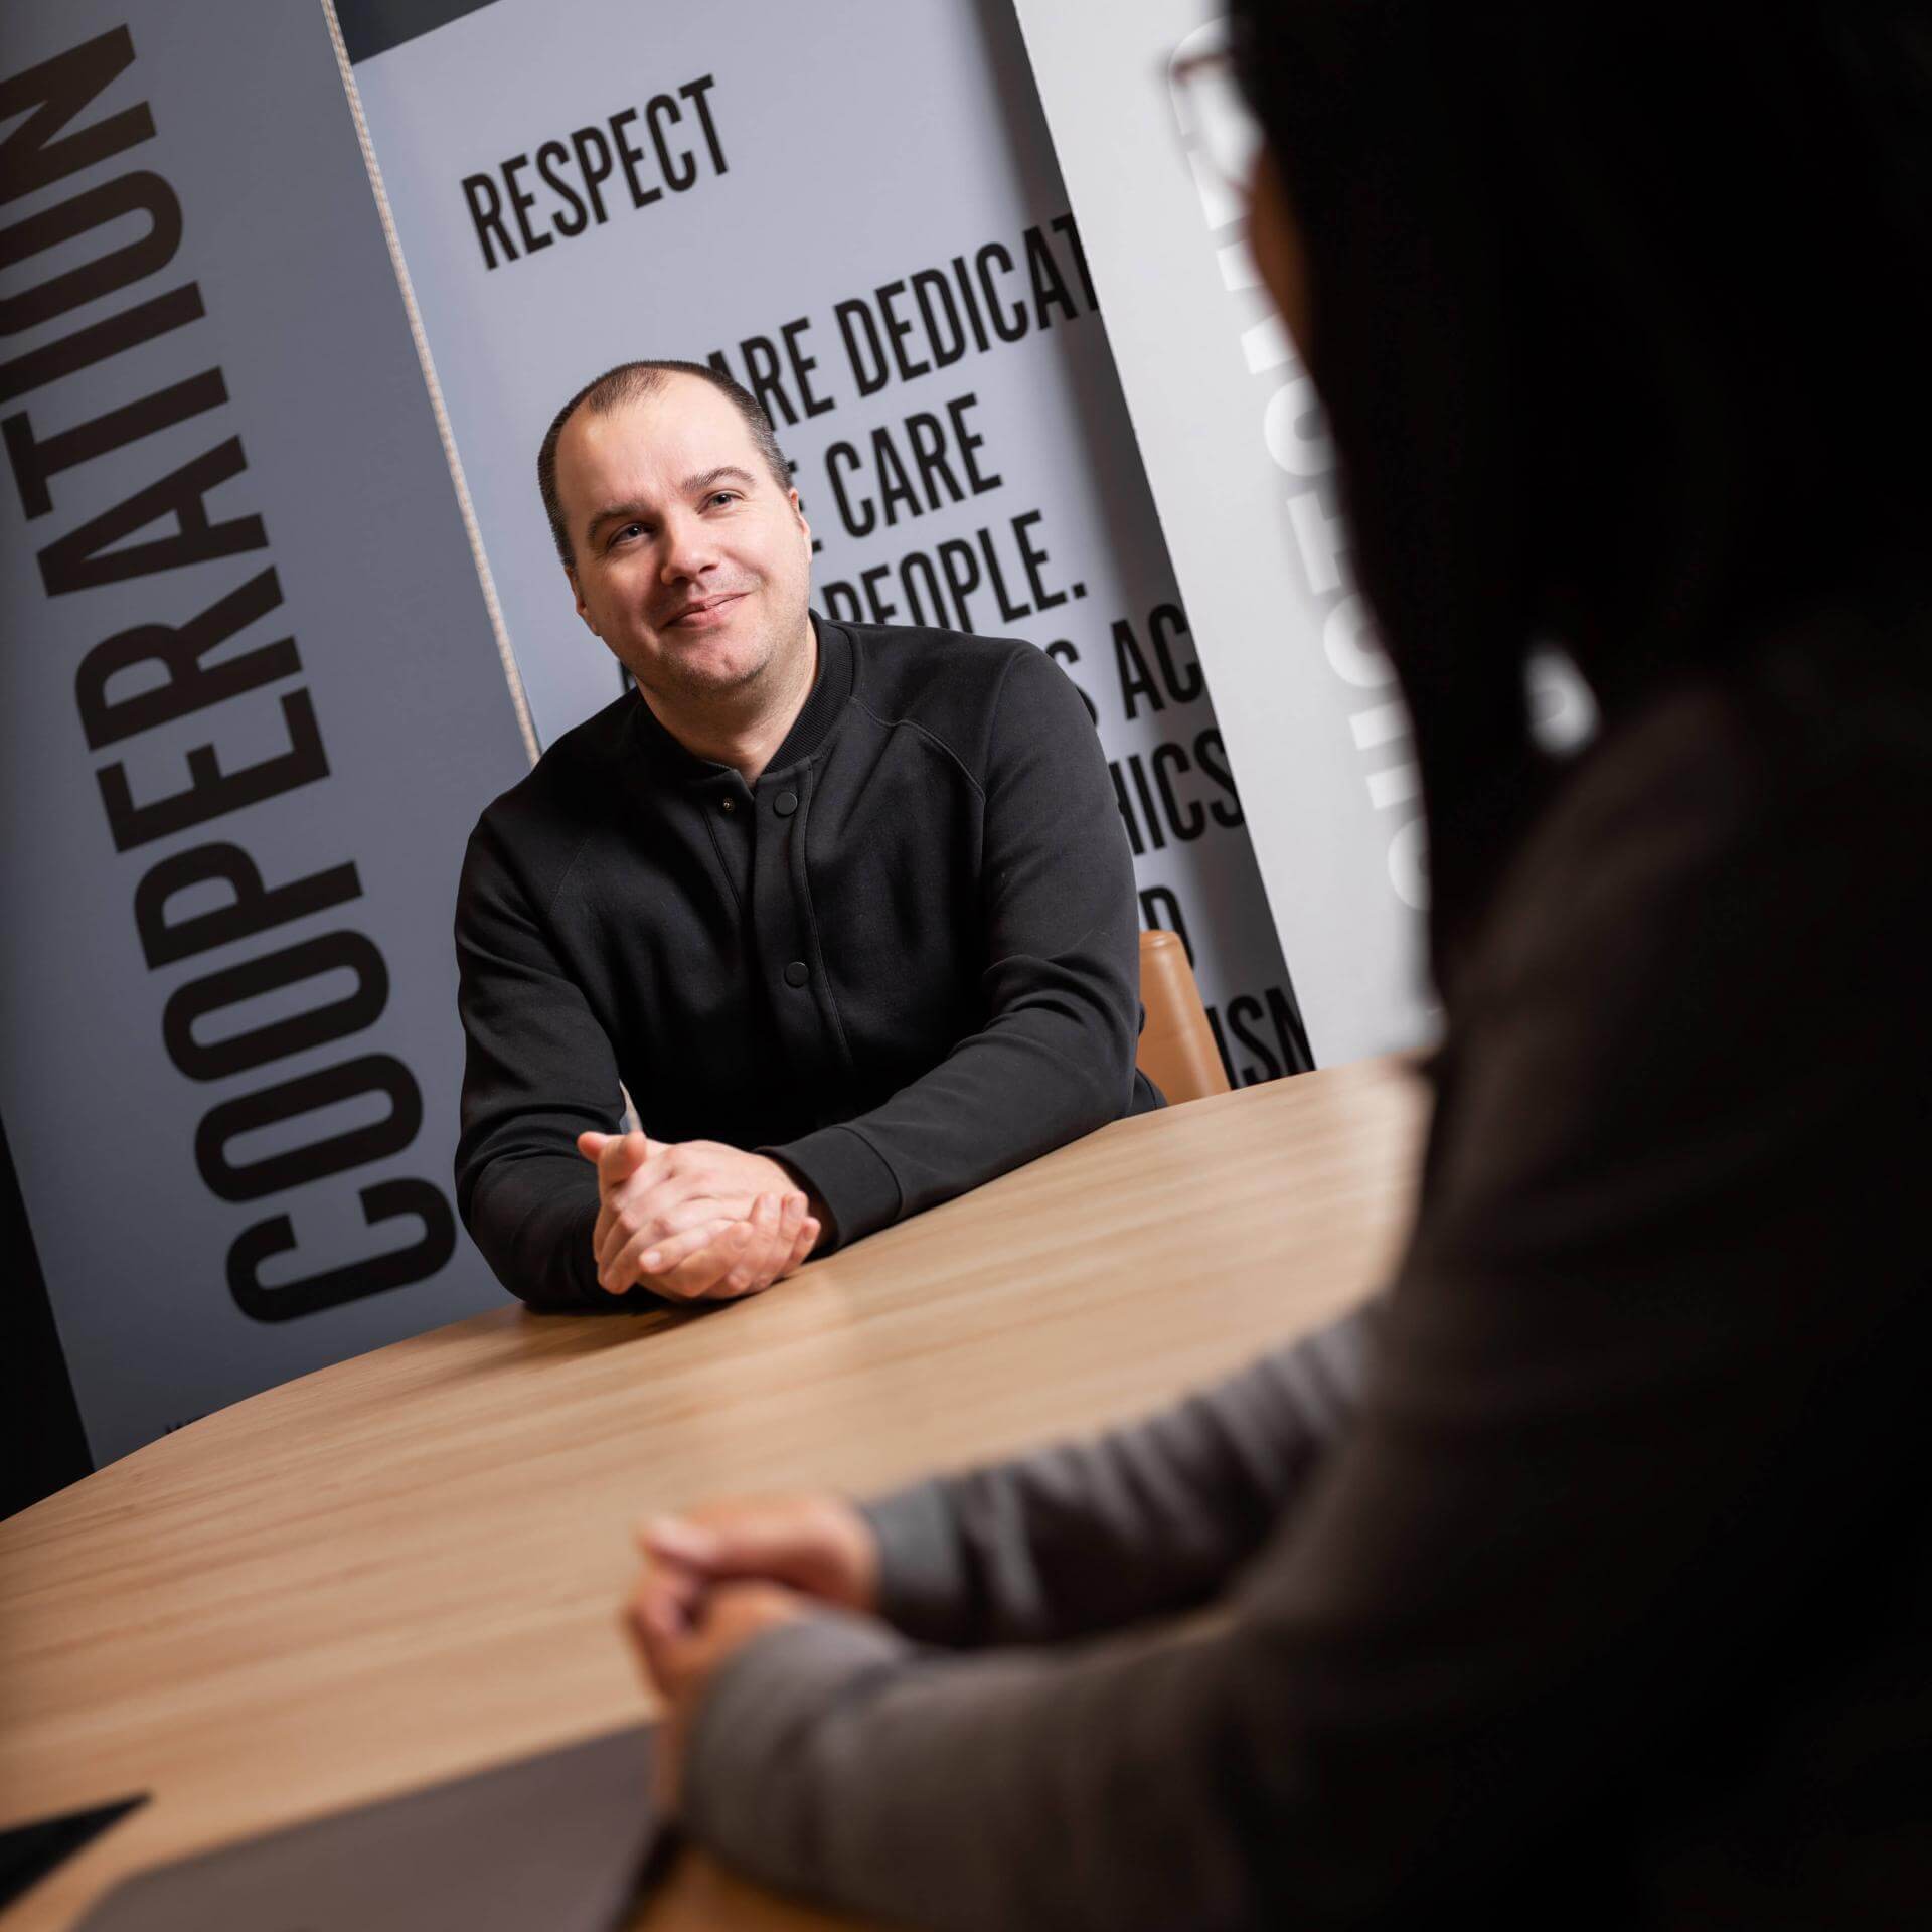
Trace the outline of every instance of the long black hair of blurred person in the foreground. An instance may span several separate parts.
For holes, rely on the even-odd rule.
[[[1540,641],[1609,715],[1932,537],[1932,6],[1231,0],[1231,37],[1453,981],[1542,788]]]

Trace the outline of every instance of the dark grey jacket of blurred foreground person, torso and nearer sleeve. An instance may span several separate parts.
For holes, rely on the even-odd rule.
[[[970,1656],[773,1631],[696,1714],[696,1837],[887,1922],[1215,1932],[1526,1920],[1592,1862],[1607,1922],[1640,1818],[1696,1857],[1774,1768],[1768,1816],[1857,1828],[1843,1733],[1776,1725],[1888,1588],[1913,1607],[1932,1022],[1893,881],[1932,788],[1737,838],[1671,777],[1497,914],[1360,1418],[1225,1617]]]

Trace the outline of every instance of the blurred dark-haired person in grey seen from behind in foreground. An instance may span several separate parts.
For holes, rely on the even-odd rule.
[[[667,1791],[914,1926],[1924,1922],[1928,10],[1231,29],[1426,786],[1414,1233],[1140,1428],[647,1528]]]

